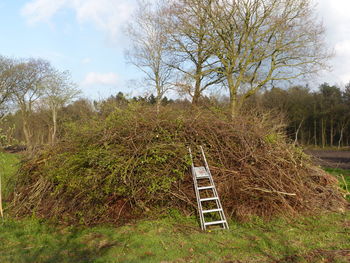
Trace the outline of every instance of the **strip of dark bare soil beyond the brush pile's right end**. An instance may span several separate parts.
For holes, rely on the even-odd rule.
[[[306,153],[316,157],[316,162],[324,167],[350,170],[350,151],[307,150]]]

